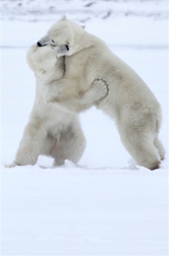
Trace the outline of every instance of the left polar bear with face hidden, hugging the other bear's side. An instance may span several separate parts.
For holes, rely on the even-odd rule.
[[[62,51],[63,49],[64,46]],[[56,52],[51,47],[40,48],[37,44],[31,46],[27,52],[28,65],[36,77],[36,97],[16,158],[6,167],[34,165],[38,155],[53,157],[54,166],[63,165],[66,159],[77,163],[84,152],[86,139],[79,116],[68,108],[63,108],[60,103],[47,101],[46,88],[50,82],[61,79],[65,72],[65,57],[56,60],[54,53]],[[93,93],[95,98],[90,98]],[[106,83],[101,80],[94,81],[90,90],[81,96],[81,106],[84,101],[81,108],[85,109],[86,102],[92,106],[93,100],[100,101],[106,94]]]

